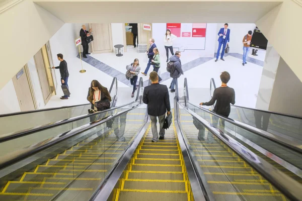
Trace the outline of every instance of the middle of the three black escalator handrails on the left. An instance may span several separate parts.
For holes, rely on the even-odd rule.
[[[113,81],[114,80],[116,80],[116,79],[113,79]],[[139,79],[139,85],[138,85],[139,89],[142,86],[142,82],[143,82],[142,78],[140,78]],[[70,122],[79,121],[79,120],[86,119],[86,118],[89,118],[89,117],[92,117],[92,116],[100,115],[102,113],[106,113],[106,112],[113,111],[113,110],[116,110],[116,109],[119,109],[119,108],[123,108],[125,106],[129,106],[129,105],[132,105],[132,104],[135,104],[135,103],[139,104],[139,103],[141,103],[141,98],[142,98],[142,95],[140,94],[140,92],[141,92],[141,90],[137,91],[136,99],[135,99],[135,101],[133,101],[131,103],[124,104],[124,105],[121,105],[121,106],[118,106],[118,107],[114,107],[114,108],[111,108],[111,109],[108,109],[108,110],[99,111],[99,112],[96,112],[96,113],[93,113],[93,114],[86,114],[86,115],[81,115],[81,116],[78,116],[78,117],[72,117],[72,118],[69,118],[69,119],[60,120],[60,121],[57,121],[57,122],[52,122],[52,123],[41,125],[41,126],[38,126],[38,127],[35,127],[35,128],[26,129],[26,130],[23,130],[21,132],[18,131],[18,132],[15,132],[15,133],[4,134],[4,135],[0,136],[0,143],[6,142],[6,141],[9,141],[9,140],[13,140],[13,139],[16,139],[16,138],[24,137],[24,136],[27,136],[27,135],[30,135],[30,134],[33,134],[33,133],[36,133],[36,132],[40,132],[40,131],[43,131],[43,130],[47,130],[47,129],[50,129],[50,128],[58,127],[58,126],[61,126],[61,125],[64,125],[64,124],[68,124]],[[117,92],[115,93],[115,97],[116,97],[116,94],[117,94]]]

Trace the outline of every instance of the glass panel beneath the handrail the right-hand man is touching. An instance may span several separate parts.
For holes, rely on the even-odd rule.
[[[247,131],[230,122],[226,122],[221,118],[207,113],[199,108],[191,108],[191,111],[196,113],[201,118],[211,123],[228,136],[234,138],[256,155],[267,159],[266,155],[272,155],[270,161],[276,163],[280,169],[293,175],[294,178],[302,177],[302,154],[285,147],[279,143],[269,140],[253,132]],[[204,138],[200,137],[203,140]],[[265,155],[266,154],[266,155]],[[289,169],[289,170],[287,170]]]

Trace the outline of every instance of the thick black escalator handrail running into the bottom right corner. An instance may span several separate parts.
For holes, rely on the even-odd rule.
[[[268,181],[270,181],[275,187],[277,187],[282,193],[292,200],[301,200],[302,197],[302,185],[283,173],[282,171],[275,168],[269,162],[265,161],[263,158],[257,156],[252,151],[247,149],[241,143],[237,142],[235,139],[225,135],[219,129],[213,127],[209,122],[202,119],[200,116],[195,114],[190,109],[182,106],[180,103],[178,105],[194,117],[198,122],[206,127],[212,134],[214,134],[219,140],[230,147],[235,153],[237,153],[241,158],[248,162],[253,168],[255,168],[262,176],[264,176]],[[294,186],[294,187],[293,187]]]

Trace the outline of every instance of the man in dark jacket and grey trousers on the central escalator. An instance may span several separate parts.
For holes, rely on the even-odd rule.
[[[165,139],[165,129],[163,129],[166,111],[168,115],[171,113],[169,91],[166,85],[159,83],[159,75],[156,71],[150,73],[151,85],[146,86],[143,90],[142,101],[147,104],[148,115],[151,120],[152,142],[159,139]],[[157,130],[157,117],[160,122],[160,138]]]

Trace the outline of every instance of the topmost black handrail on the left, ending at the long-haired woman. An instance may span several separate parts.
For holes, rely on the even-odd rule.
[[[115,96],[117,94],[117,78],[114,77],[111,86],[109,89],[109,94],[111,93],[112,87],[116,84],[116,89],[115,89]],[[63,107],[58,107],[58,108],[46,108],[46,109],[40,109],[40,110],[30,110],[30,111],[24,111],[24,112],[17,112],[17,113],[9,113],[9,114],[4,114],[0,115],[0,118],[2,117],[9,117],[9,116],[16,116],[16,115],[24,115],[24,114],[30,114],[30,113],[38,113],[38,112],[44,112],[44,111],[52,111],[52,110],[61,110],[61,109],[66,109],[66,108],[73,108],[73,107],[80,107],[80,106],[90,106],[91,104],[80,104],[80,105],[74,105],[74,106],[63,106]]]

